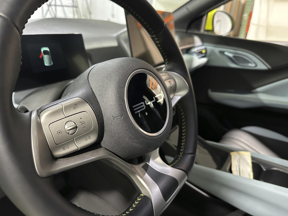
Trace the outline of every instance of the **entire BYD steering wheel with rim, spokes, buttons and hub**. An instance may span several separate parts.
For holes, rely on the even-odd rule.
[[[121,215],[160,215],[193,166],[196,107],[182,53],[148,1],[113,1],[147,30],[164,58],[163,72],[136,58],[105,61],[76,78],[61,99],[27,113],[11,100],[21,65],[20,37],[45,1],[0,1],[0,187],[26,215],[98,215],[65,199],[51,177],[99,159],[125,173],[139,190]],[[167,165],[159,147],[171,130],[174,106],[179,144]],[[142,158],[139,163],[127,162],[136,157]]]

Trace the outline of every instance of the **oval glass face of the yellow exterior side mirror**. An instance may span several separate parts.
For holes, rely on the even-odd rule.
[[[213,16],[213,31],[216,35],[229,35],[234,29],[234,20],[228,13],[218,10]]]

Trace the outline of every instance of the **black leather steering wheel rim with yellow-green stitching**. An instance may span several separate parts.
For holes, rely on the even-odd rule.
[[[197,119],[192,82],[181,51],[169,29],[148,1],[113,1],[131,13],[149,32],[164,58],[165,70],[180,74],[189,86],[189,93],[179,102],[182,133],[179,135],[178,154],[170,164],[188,173],[193,166],[196,151]],[[44,2],[39,0],[0,2],[0,65],[2,66],[0,186],[12,202],[27,215],[91,215],[91,212],[83,211],[65,200],[54,188],[51,179],[38,176],[31,151],[31,113],[19,113],[13,107],[11,100],[21,64],[22,29],[31,14]],[[140,194],[135,202],[139,199],[141,202],[138,207],[129,212],[129,215],[150,215],[152,204],[149,198]],[[125,212],[122,215],[125,215]]]

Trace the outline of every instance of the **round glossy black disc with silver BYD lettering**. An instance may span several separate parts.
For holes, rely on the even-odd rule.
[[[152,74],[136,73],[127,88],[127,102],[132,118],[143,130],[155,134],[167,120],[167,101],[163,89]]]

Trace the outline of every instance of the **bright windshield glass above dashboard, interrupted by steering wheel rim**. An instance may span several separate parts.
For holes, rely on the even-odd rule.
[[[173,12],[189,0],[148,0],[156,9]],[[72,18],[107,20],[126,24],[122,7],[108,0],[49,0],[29,19],[29,22],[44,18]]]

